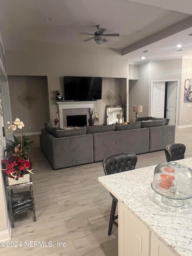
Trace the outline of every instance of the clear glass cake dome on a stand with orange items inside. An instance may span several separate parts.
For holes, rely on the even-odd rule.
[[[192,170],[171,161],[155,167],[152,189],[163,196],[162,202],[169,206],[180,207],[184,199],[192,198]]]

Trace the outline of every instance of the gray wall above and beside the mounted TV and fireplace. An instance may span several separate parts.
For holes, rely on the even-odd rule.
[[[64,76],[95,76],[109,78],[128,78],[129,64],[118,50],[60,45],[43,42],[29,42],[22,52],[6,52],[7,74],[25,76],[47,76],[49,90],[50,120],[54,123],[58,105],[55,91],[64,93]],[[126,80],[128,87],[128,80]],[[103,108],[104,107],[104,108]],[[105,104],[97,103],[100,123],[105,116]]]

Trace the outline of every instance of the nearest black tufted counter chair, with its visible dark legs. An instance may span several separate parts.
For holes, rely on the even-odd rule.
[[[119,153],[107,156],[103,160],[103,168],[105,175],[110,175],[114,173],[125,172],[129,170],[134,170],[137,163],[137,155],[134,153]],[[118,218],[118,215],[115,216],[116,205],[117,205],[117,198],[111,194],[113,198],[112,206],[111,206],[111,214],[110,214],[110,221],[109,221],[109,230],[108,236],[111,235],[113,224],[118,227],[118,223],[115,221]]]

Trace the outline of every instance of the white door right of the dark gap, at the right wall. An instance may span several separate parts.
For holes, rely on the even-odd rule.
[[[170,125],[175,125],[176,101],[177,101],[177,81],[167,82],[166,118],[170,119],[169,121]]]

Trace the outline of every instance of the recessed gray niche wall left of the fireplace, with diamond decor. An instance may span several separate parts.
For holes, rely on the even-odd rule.
[[[8,83],[12,121],[16,118],[23,121],[25,125],[23,127],[24,133],[32,132],[29,126],[33,126],[35,132],[40,132],[41,128],[44,127],[44,122],[49,121],[47,78],[40,76],[8,76]],[[29,95],[24,95],[23,101],[19,102],[19,95],[28,91]],[[30,109],[23,105],[25,100],[32,102]],[[14,134],[20,134],[20,130],[17,129]]]

